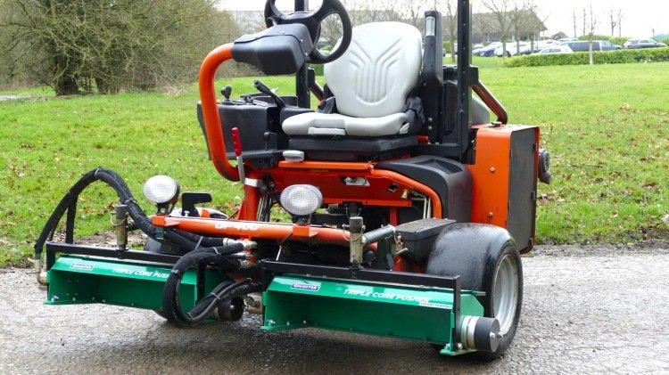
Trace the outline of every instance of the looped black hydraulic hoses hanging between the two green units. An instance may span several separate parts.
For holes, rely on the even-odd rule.
[[[169,273],[162,292],[162,314],[172,324],[178,327],[193,327],[211,314],[219,305],[220,301],[234,298],[242,294],[260,291],[259,283],[250,280],[225,281],[211,293],[200,299],[189,312],[185,312],[179,304],[178,289],[186,271],[199,264],[213,264],[226,272],[232,272],[241,268],[241,262],[233,257],[233,254],[244,249],[241,243],[235,243],[221,248],[196,249],[184,257],[181,257]]]

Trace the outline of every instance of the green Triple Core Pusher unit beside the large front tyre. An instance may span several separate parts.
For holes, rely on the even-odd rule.
[[[449,345],[455,314],[451,289],[307,276],[277,276],[262,296],[263,330],[318,327]],[[483,316],[467,291],[461,316]]]

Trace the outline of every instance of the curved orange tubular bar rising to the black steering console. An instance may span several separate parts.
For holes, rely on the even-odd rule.
[[[227,160],[226,143],[223,138],[223,129],[220,126],[219,104],[216,102],[214,77],[220,64],[232,59],[232,43],[221,45],[211,51],[202,61],[200,67],[200,101],[202,102],[202,118],[204,131],[207,134],[207,143],[211,161],[219,174],[230,181],[239,181],[239,171]]]

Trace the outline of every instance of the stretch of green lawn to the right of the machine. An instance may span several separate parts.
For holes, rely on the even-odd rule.
[[[665,63],[483,70],[510,122],[541,125],[555,182],[540,186],[540,241],[666,237]]]

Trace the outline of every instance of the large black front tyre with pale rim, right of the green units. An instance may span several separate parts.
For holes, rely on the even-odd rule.
[[[459,275],[462,289],[485,292],[479,301],[484,316],[500,322],[500,345],[491,353],[468,355],[487,361],[503,355],[516,335],[523,304],[523,265],[507,230],[488,224],[448,226],[434,242],[425,273]]]

